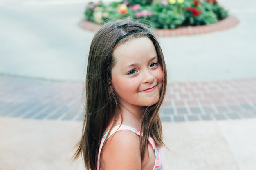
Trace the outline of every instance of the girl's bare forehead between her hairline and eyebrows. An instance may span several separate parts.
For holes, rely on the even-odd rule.
[[[132,38],[118,46],[114,52],[115,66],[151,59],[157,55],[153,42],[147,37]]]

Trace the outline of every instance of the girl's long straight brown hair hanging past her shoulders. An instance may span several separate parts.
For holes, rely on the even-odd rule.
[[[127,33],[131,34],[117,42]],[[88,170],[96,170],[103,132],[112,118],[114,118],[114,123],[111,129],[114,127],[120,110],[118,96],[112,92],[111,86],[110,70],[115,64],[113,51],[131,38],[139,37],[147,37],[153,42],[164,73],[159,101],[152,106],[145,106],[140,115],[141,132],[143,132],[143,135],[140,136],[141,160],[144,158],[145,152],[148,151],[149,135],[155,140],[157,146],[164,146],[162,124],[158,114],[167,86],[166,65],[162,49],[154,32],[144,24],[128,20],[107,22],[94,35],[90,46],[85,84],[85,118],[82,137],[74,154],[74,159],[82,155],[85,168]]]

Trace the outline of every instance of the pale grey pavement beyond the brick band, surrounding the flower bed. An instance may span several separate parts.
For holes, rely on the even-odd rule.
[[[0,4],[0,73],[82,81],[93,37],[77,26],[86,1],[11,2]],[[169,81],[256,77],[256,2],[220,3],[240,24],[210,34],[159,38]]]

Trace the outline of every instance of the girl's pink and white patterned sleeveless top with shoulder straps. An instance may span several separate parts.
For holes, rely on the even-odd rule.
[[[140,135],[140,131],[139,130],[136,130],[135,128],[129,126],[129,125],[117,125],[117,126],[114,126],[113,129],[111,130],[110,132],[110,135],[113,135],[115,132],[118,132],[120,130],[130,130],[132,132],[134,132],[135,134],[137,135]],[[102,146],[103,146],[103,143],[104,141],[106,140],[106,137],[108,135],[110,130],[108,130],[105,135],[103,136],[102,140],[101,140],[101,144],[100,144],[100,147],[99,147],[99,155],[98,155],[98,162],[97,162],[97,170],[100,170],[99,168],[99,163],[100,163],[100,160],[99,160],[99,156],[101,154],[101,149],[102,149]],[[163,159],[163,151],[162,151],[162,148],[157,148],[156,145],[155,145],[155,141],[153,138],[149,137],[148,138],[148,142],[149,144],[153,147],[153,149],[155,150],[155,165],[154,165],[154,168],[153,170],[164,170],[164,159]]]

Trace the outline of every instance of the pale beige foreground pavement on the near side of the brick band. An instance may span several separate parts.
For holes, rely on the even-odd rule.
[[[163,123],[166,170],[254,170],[256,119]],[[79,121],[0,117],[1,170],[83,170]]]

